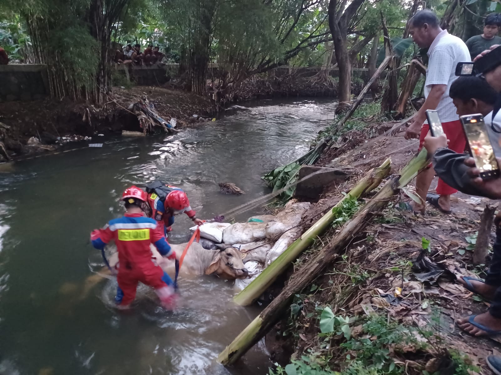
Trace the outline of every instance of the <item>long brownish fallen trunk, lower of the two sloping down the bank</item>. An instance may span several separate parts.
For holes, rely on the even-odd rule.
[[[428,162],[426,150],[423,149],[402,169],[400,175],[390,178],[381,190],[341,228],[330,243],[320,250],[313,260],[293,274],[282,292],[236,336],[233,342],[219,353],[217,360],[224,365],[232,364],[256,344],[283,316],[284,310],[290,305],[294,294],[300,292],[323,274],[326,267],[336,258],[338,252],[344,250],[356,233],[360,233],[365,228],[373,216],[373,212],[384,208],[399,192],[399,189],[409,183]]]

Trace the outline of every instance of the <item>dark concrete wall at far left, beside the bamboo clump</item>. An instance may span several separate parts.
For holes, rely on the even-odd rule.
[[[0,101],[37,100],[50,95],[47,66],[0,65]]]

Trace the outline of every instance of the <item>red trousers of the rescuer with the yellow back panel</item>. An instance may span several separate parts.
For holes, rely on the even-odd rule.
[[[133,264],[131,267],[120,264],[118,268],[118,287],[121,289],[117,291],[115,300],[121,305],[128,305],[132,303],[136,297],[137,284],[141,281],[145,285],[149,285],[154,289],[166,287],[167,284],[162,279],[164,276],[163,269],[155,265],[155,263]],[[170,278],[169,278],[170,280]]]

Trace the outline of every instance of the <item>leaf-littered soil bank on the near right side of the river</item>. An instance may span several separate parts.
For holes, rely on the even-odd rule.
[[[405,140],[403,130],[390,134],[394,124],[367,123],[363,130],[346,132],[325,150],[318,164],[343,168],[354,175],[326,186],[321,198],[312,205],[311,217],[332,207],[342,192],[349,191],[360,177],[387,157],[391,158],[394,174],[417,153],[417,140]],[[414,190],[413,182],[407,188]],[[405,200],[409,201],[409,197],[401,192],[371,219],[365,230],[353,234],[351,244],[339,253],[325,274],[295,296],[291,308],[267,335],[273,361],[285,366],[292,355],[298,371],[334,369],[343,375],[490,373],[485,358],[497,353],[501,346],[492,339],[468,335],[454,324],[454,319],[484,312],[488,306],[481,297],[467,291],[457,277],[485,276],[485,264],[473,266],[472,247],[480,213],[492,201],[456,193],[451,214],[442,213],[428,203],[426,214],[416,215],[400,209],[399,201]],[[303,253],[288,276],[300,269],[301,264],[311,261],[338,229],[331,228],[315,242],[313,249]],[[426,271],[417,268],[423,264],[424,256],[443,270],[438,272],[440,276],[422,276]],[[489,262],[490,254],[485,263]],[[272,294],[278,295],[284,279],[287,277],[270,289]],[[330,310],[324,315],[326,308]],[[330,311],[335,316],[334,331],[325,333],[326,322],[322,323],[322,318],[330,316]],[[346,328],[338,324],[338,316],[350,318],[347,334]],[[412,332],[412,337],[408,333],[398,336],[395,332],[401,328]],[[395,335],[389,336],[388,332]],[[370,366],[378,363],[386,371],[392,370],[370,372],[373,368]],[[446,367],[451,363],[461,364],[448,372],[450,368]],[[360,370],[355,370],[356,366]],[[367,366],[368,372],[360,372]],[[465,372],[468,366],[475,367]],[[284,368],[279,367],[277,373],[283,373],[280,371]]]

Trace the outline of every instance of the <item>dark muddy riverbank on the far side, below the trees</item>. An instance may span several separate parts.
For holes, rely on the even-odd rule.
[[[360,91],[362,83],[360,80],[353,84],[354,94]],[[61,148],[61,143],[82,140],[100,142],[99,137],[96,138],[98,134],[141,131],[137,116],[129,108],[143,96],[155,106],[162,118],[167,121],[175,118],[179,129],[210,121],[232,103],[243,100],[335,97],[337,78],[322,79],[295,74],[283,77],[256,76],[246,79],[238,87],[218,91],[215,96],[210,87],[206,95],[187,92],[181,87],[183,83],[180,79],[173,79],[162,87],[113,87],[102,106],[75,103],[67,98],[0,102],[0,162],[53,151]],[[37,144],[33,144],[33,141]]]

